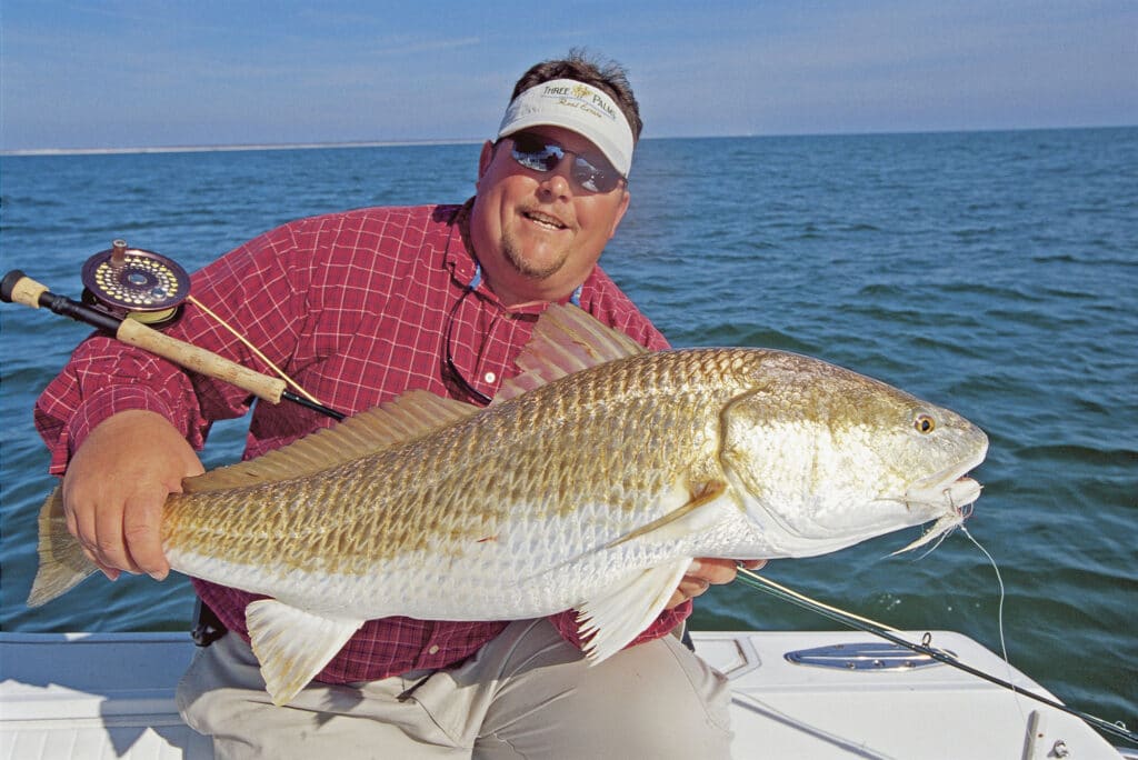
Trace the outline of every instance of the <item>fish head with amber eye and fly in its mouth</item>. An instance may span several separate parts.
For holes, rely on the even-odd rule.
[[[795,354],[764,352],[749,375],[720,413],[720,464],[766,556],[823,554],[931,520],[942,532],[980,495],[965,474],[988,437],[959,414]]]

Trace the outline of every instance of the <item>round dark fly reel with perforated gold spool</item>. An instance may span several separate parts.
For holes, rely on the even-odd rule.
[[[115,240],[83,264],[83,303],[118,319],[168,324],[190,295],[190,275],[152,250]]]

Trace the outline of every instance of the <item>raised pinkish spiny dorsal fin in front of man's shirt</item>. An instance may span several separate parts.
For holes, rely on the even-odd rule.
[[[521,374],[502,383],[494,404],[516,398],[567,374],[648,349],[577,306],[550,304],[516,364]]]

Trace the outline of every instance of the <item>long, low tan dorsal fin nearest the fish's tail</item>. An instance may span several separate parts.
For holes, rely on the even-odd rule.
[[[187,478],[185,493],[200,494],[322,472],[396,444],[420,438],[478,412],[471,404],[410,390],[398,398],[361,412],[331,428],[318,430],[248,462]]]

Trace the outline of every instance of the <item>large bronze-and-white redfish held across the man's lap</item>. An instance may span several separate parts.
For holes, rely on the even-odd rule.
[[[966,420],[803,356],[648,353],[551,307],[522,373],[480,410],[412,391],[166,503],[171,567],[271,596],[246,610],[288,702],[364,620],[580,613],[603,660],[659,614],[692,557],[832,552],[958,523],[988,441]],[[61,501],[28,604],[90,575]]]

